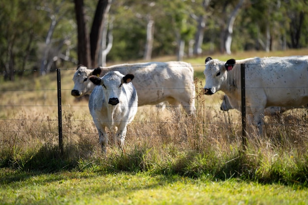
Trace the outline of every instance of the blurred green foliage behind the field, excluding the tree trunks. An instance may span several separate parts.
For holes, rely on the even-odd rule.
[[[88,31],[92,26],[96,3],[85,2]],[[154,21],[153,58],[175,55],[179,39],[185,40],[187,53],[188,42],[194,39],[197,31],[198,24],[194,18],[199,16],[204,16],[206,20],[201,46],[203,53],[219,51],[221,32],[238,1],[211,1],[206,10],[203,3],[203,0],[113,1],[110,10],[110,18],[114,19],[113,48],[107,60],[142,59],[149,19]],[[267,40],[268,29],[272,50],[307,47],[307,14],[305,0],[245,1],[234,24],[232,52],[263,50],[262,43],[265,44]],[[51,18],[56,19],[57,24],[52,33],[52,42],[46,47]],[[0,56],[0,72],[8,72],[10,68],[19,71],[18,75],[24,75],[23,70],[40,67],[46,49],[50,49],[51,56],[60,52],[77,59],[75,18],[72,1],[2,0],[0,53],[3,55]],[[75,64],[58,62],[55,66],[68,67]]]

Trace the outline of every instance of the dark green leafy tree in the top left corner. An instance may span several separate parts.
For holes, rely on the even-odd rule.
[[[37,51],[36,40],[44,30],[44,18],[35,18],[37,1],[0,2],[0,71],[5,80],[14,81],[14,70],[22,75],[31,53]],[[27,29],[25,29],[27,28]],[[25,32],[26,31],[26,32]]]

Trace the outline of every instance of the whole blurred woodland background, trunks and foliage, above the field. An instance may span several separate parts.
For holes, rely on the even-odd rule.
[[[77,64],[307,47],[307,0],[0,2],[1,80]]]

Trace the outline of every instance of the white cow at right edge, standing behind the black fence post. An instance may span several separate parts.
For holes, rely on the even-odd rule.
[[[245,64],[246,108],[262,134],[264,109],[308,103],[308,56],[229,59],[207,58],[204,93],[223,91],[231,106],[241,105],[241,63]],[[233,104],[233,102],[237,102]]]

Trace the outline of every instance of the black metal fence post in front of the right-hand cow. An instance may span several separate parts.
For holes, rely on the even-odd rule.
[[[242,95],[242,145],[246,149],[246,95],[245,95],[245,64],[241,64],[241,95]]]

